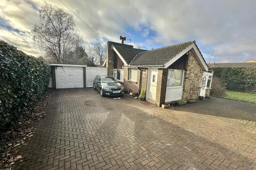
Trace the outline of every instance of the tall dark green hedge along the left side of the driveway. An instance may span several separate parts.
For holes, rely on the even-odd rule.
[[[50,66],[0,40],[0,132],[19,121],[47,88]]]

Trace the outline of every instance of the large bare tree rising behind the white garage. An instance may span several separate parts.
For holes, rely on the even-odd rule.
[[[31,29],[34,42],[56,62],[66,62],[67,55],[83,43],[75,31],[73,16],[61,8],[45,3],[40,10],[40,22]]]

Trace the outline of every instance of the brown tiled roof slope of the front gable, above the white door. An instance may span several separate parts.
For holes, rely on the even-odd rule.
[[[175,44],[138,53],[131,61],[131,66],[163,66],[195,41]]]

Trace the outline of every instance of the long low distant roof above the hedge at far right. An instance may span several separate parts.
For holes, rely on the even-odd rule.
[[[209,68],[256,67],[256,63],[209,63]]]

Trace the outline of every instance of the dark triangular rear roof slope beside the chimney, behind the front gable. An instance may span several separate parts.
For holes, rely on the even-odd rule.
[[[122,44],[115,44],[113,47],[122,56],[127,64],[129,64],[138,53],[147,51],[145,49],[127,47]]]

